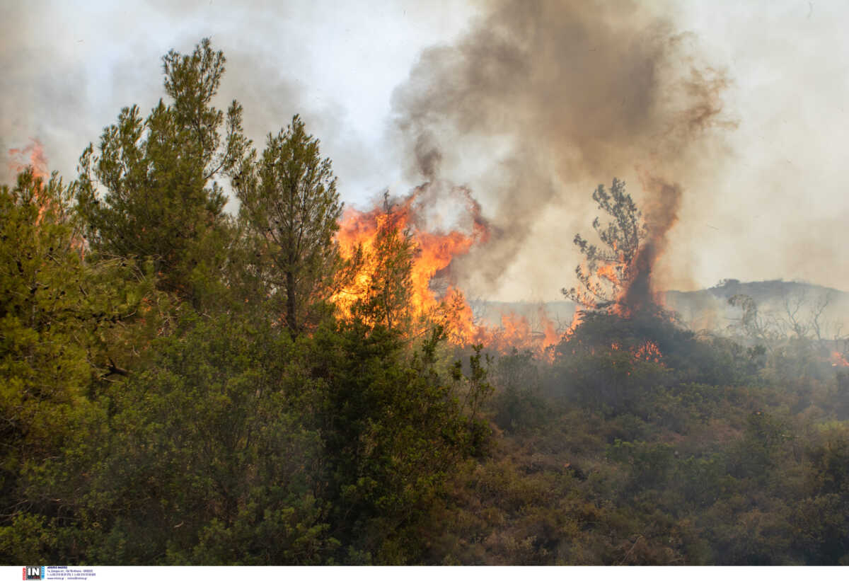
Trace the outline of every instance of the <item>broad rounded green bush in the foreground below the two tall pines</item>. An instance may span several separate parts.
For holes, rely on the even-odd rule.
[[[268,327],[187,319],[116,392],[88,494],[121,563],[319,562],[321,440],[281,389],[293,346]],[[105,510],[104,510],[105,509]]]

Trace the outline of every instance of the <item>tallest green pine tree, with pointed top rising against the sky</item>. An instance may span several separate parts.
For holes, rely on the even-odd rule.
[[[211,103],[224,73],[224,55],[204,39],[190,55],[163,58],[165,89],[142,118],[121,110],[98,151],[80,158],[79,210],[94,249],[152,259],[160,288],[200,303],[204,276],[223,262],[226,196],[216,178],[233,172],[249,146],[242,107],[233,101],[225,121]],[[222,131],[224,135],[222,136]]]

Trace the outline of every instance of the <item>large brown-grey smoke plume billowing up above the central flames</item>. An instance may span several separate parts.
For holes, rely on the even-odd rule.
[[[587,183],[637,166],[665,176],[657,183],[686,183],[686,161],[712,128],[728,125],[726,77],[700,65],[693,45],[668,16],[638,3],[498,0],[458,42],[424,51],[393,102],[409,172],[464,180],[473,149],[493,143],[476,194],[498,235],[461,269],[498,282],[533,225],[556,208],[580,208],[563,225],[586,231]],[[508,152],[492,154],[505,140]],[[658,234],[653,253],[683,191],[656,185],[644,192]]]

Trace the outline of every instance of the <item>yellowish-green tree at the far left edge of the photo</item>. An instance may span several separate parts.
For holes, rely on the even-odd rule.
[[[69,499],[34,492],[28,478],[53,479],[46,463],[88,445],[103,420],[99,393],[138,363],[127,344],[143,352],[159,322],[143,274],[84,254],[58,178],[43,183],[28,170],[0,189],[0,550],[8,557],[41,555],[51,536],[42,524],[65,522]],[[148,324],[138,324],[142,316]],[[20,538],[27,531],[34,536]]]

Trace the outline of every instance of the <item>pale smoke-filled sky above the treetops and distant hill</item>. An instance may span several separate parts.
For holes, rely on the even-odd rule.
[[[402,195],[426,178],[469,186],[509,242],[461,264],[469,296],[559,298],[561,287],[574,285],[580,260],[571,240],[591,234],[598,214],[595,185],[625,178],[635,198],[656,205],[645,172],[682,191],[677,220],[665,230],[659,285],[694,290],[720,279],[781,278],[849,291],[849,5],[664,1],[617,14],[627,2],[566,4],[551,18],[553,3],[548,13],[520,14],[509,0],[0,0],[0,152],[37,138],[50,168],[73,179],[82,149],[97,143],[121,107],[149,110],[163,94],[161,56],[211,37],[228,58],[222,104],[244,105],[246,132],[260,149],[267,133],[301,114],[333,160],[346,204],[363,207],[386,188]],[[528,54],[493,73],[517,75],[521,90],[509,90],[510,80],[486,85],[486,93],[469,84],[476,69],[463,66],[486,73],[501,62],[475,53],[498,48],[484,42],[490,29],[521,37],[516,46]],[[575,42],[564,40],[570,35]],[[634,48],[603,48],[596,59],[581,52],[582,37],[588,51],[598,38]],[[651,71],[662,78],[645,93],[651,107],[635,115],[643,111],[655,125],[626,116],[619,121],[627,130],[606,127],[621,112],[608,116],[605,99],[644,82],[641,68],[617,69],[641,50],[646,62],[660,63]],[[710,99],[721,110],[698,136],[655,147],[666,135],[657,127],[678,113],[677,101],[658,94],[689,99],[690,70],[716,81]],[[578,103],[585,96],[590,102]],[[458,104],[474,109],[474,99],[486,116]],[[589,117],[598,133],[580,119],[561,124],[561,116]],[[413,159],[423,132],[444,160],[438,176],[424,175]],[[495,268],[478,268],[485,262]]]

